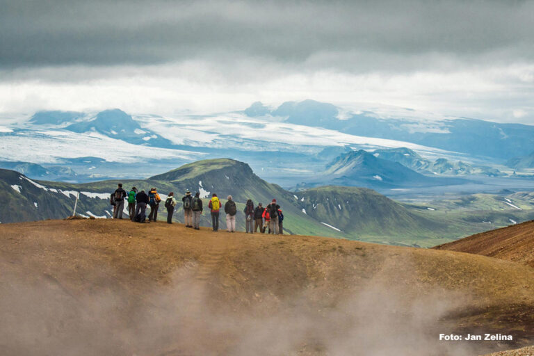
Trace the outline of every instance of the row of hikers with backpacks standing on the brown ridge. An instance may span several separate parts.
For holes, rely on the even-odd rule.
[[[161,202],[161,197],[156,188],[151,188],[148,194],[143,190],[138,191],[136,187],[132,187],[131,191],[127,192],[122,188],[121,183],[118,184],[118,188],[115,192],[111,193],[110,197],[110,203],[113,206],[113,218],[122,219],[124,199],[128,202],[128,216],[130,220],[137,223],[156,222],[159,204]],[[193,197],[191,191],[186,191],[184,197],[181,198],[181,202],[184,209],[186,227],[192,227],[196,230],[200,229],[200,216],[202,216],[202,212],[204,211],[200,192],[195,193]],[[175,193],[170,192],[165,200],[167,223],[169,224],[172,224],[172,214],[175,211],[176,205]],[[147,207],[150,207],[148,221],[146,221]],[[222,208],[222,203],[217,194],[213,193],[208,203],[208,209],[211,212],[211,225],[214,232],[217,232],[219,229],[219,215],[220,209]],[[226,213],[227,231],[235,232],[237,207],[232,195],[228,195],[224,211]],[[260,233],[284,234],[284,214],[275,199],[267,207],[263,207],[261,203],[258,203],[257,207],[254,207],[254,202],[249,199],[247,200],[247,204],[245,204],[243,213],[245,213],[245,230],[247,234],[258,232],[258,230]]]

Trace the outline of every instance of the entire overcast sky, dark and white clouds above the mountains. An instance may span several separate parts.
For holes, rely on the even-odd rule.
[[[0,112],[384,104],[534,124],[534,1],[0,0]]]

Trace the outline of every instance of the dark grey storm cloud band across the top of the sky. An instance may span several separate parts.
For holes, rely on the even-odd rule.
[[[261,58],[358,71],[534,58],[534,1],[0,0],[0,8],[3,69]]]

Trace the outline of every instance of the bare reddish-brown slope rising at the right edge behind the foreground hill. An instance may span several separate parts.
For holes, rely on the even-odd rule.
[[[534,221],[444,243],[435,249],[482,254],[534,267]]]

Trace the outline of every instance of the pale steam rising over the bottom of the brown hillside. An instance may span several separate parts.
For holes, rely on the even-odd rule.
[[[412,298],[411,277],[383,282],[381,274],[391,269],[346,291],[310,284],[286,298],[258,291],[229,301],[213,281],[198,278],[196,264],[133,296],[120,284],[79,296],[53,277],[7,282],[3,275],[0,353],[472,355],[464,345],[438,341],[439,332],[452,331],[440,318],[461,307],[462,298],[443,291]]]

